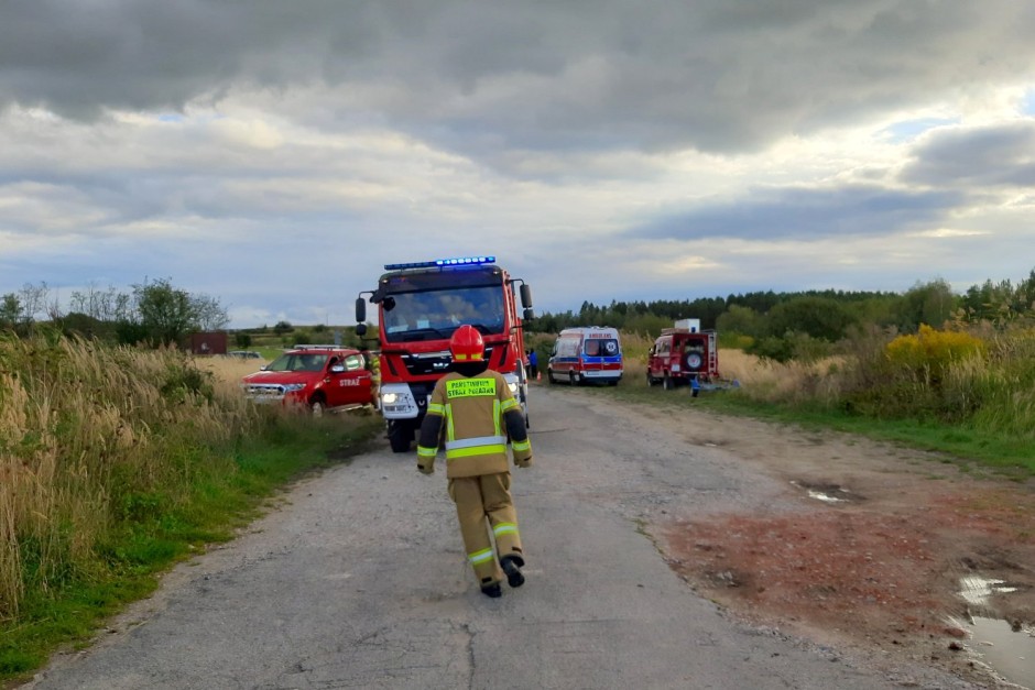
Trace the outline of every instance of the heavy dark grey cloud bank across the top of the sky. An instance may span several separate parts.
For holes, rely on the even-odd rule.
[[[320,81],[342,89],[338,117],[473,152],[753,150],[1035,65],[1035,10],[1012,0],[20,0],[2,12],[0,105],[91,117]]]

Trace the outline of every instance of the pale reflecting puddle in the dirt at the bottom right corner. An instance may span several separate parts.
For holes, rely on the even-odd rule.
[[[974,606],[987,607],[992,594],[1015,591],[1003,580],[976,576],[960,579],[960,596]],[[1035,689],[1035,628],[987,616],[954,618],[952,623],[970,634],[970,653],[980,662],[1009,682]]]

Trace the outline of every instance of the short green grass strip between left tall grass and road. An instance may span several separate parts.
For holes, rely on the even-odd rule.
[[[127,603],[149,595],[157,576],[227,541],[261,514],[266,500],[305,472],[347,462],[382,428],[380,417],[302,417],[233,453],[237,472],[198,477],[186,501],[168,505],[161,495],[135,496],[126,521],[101,548],[103,567],[69,574],[39,588],[22,602],[14,621],[0,623],[0,681],[24,680],[55,650],[85,646],[98,625]],[[29,566],[31,567],[31,565]]]

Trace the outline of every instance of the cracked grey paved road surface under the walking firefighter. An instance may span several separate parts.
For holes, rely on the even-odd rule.
[[[535,467],[514,471],[513,491],[523,588],[478,591],[444,460],[424,477],[384,442],[297,483],[26,687],[971,687],[745,625],[695,594],[643,525],[785,489],[581,393],[533,390]]]

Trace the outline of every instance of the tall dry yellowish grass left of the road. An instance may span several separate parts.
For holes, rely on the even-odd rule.
[[[0,621],[112,566],[113,535],[175,506],[259,424],[175,350],[0,335]]]

